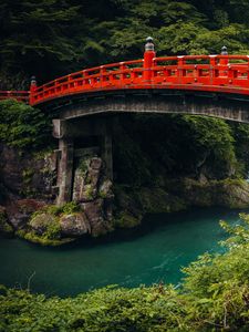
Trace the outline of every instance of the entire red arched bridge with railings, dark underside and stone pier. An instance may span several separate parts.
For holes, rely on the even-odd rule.
[[[249,123],[249,56],[228,55],[222,48],[220,55],[156,58],[148,38],[142,60],[86,69],[41,86],[32,79],[29,92],[0,92],[0,98],[10,97],[53,111],[58,204],[63,204],[79,198],[75,165],[90,149],[113,178],[115,114],[189,113]]]

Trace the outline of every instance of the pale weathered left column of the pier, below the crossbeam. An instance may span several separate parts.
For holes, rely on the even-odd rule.
[[[63,205],[72,199],[73,186],[73,139],[59,139],[59,168],[58,168],[58,205]]]

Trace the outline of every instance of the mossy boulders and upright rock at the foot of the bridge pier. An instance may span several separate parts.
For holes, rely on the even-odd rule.
[[[15,229],[22,229],[20,236],[53,246],[64,239],[84,235],[97,237],[113,229],[112,181],[105,177],[100,157],[80,160],[74,175],[73,198],[74,203],[62,207],[34,199],[19,200],[15,210],[12,208],[12,224]]]

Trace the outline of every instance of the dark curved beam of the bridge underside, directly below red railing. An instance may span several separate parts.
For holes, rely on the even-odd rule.
[[[50,103],[60,118],[72,120],[107,113],[187,113],[249,123],[249,97],[198,91],[124,90],[74,95]]]

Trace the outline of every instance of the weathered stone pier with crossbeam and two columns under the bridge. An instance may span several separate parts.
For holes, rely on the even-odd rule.
[[[104,162],[105,175],[113,180],[112,121],[107,118],[77,118],[77,121],[53,120],[53,136],[59,139],[58,154],[58,205],[72,200],[75,139],[97,137],[100,157]],[[85,148],[91,149],[91,147]]]

